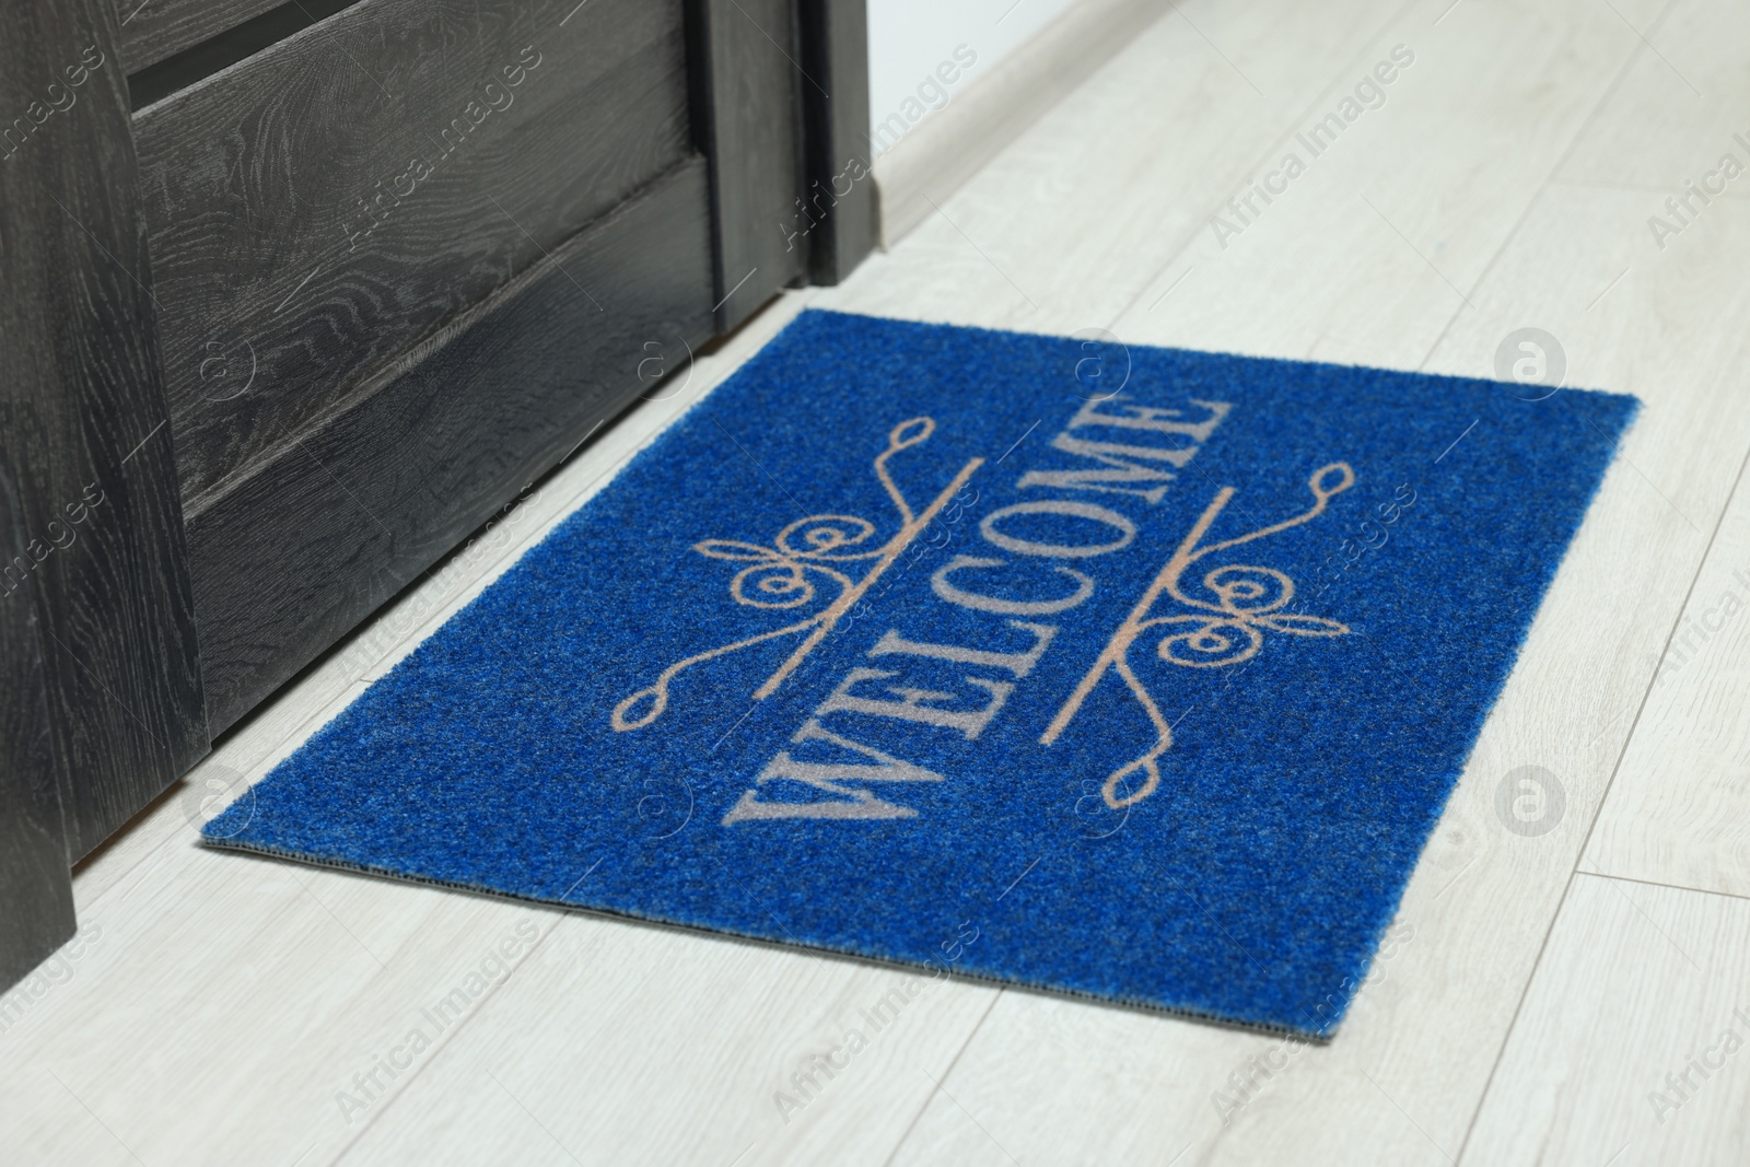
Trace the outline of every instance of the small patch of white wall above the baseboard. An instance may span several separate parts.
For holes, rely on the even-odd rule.
[[[1062,16],[1076,0],[868,0],[870,135],[875,156]],[[961,49],[964,45],[964,49]],[[956,59],[956,49],[961,49]],[[973,58],[973,65],[964,61]],[[938,73],[938,68],[947,65]],[[943,82],[942,77],[952,77]],[[880,129],[882,124],[887,129]]]

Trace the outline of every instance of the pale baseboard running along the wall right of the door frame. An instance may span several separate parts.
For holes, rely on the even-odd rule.
[[[875,159],[880,245],[898,243],[1171,0],[1082,0]]]

